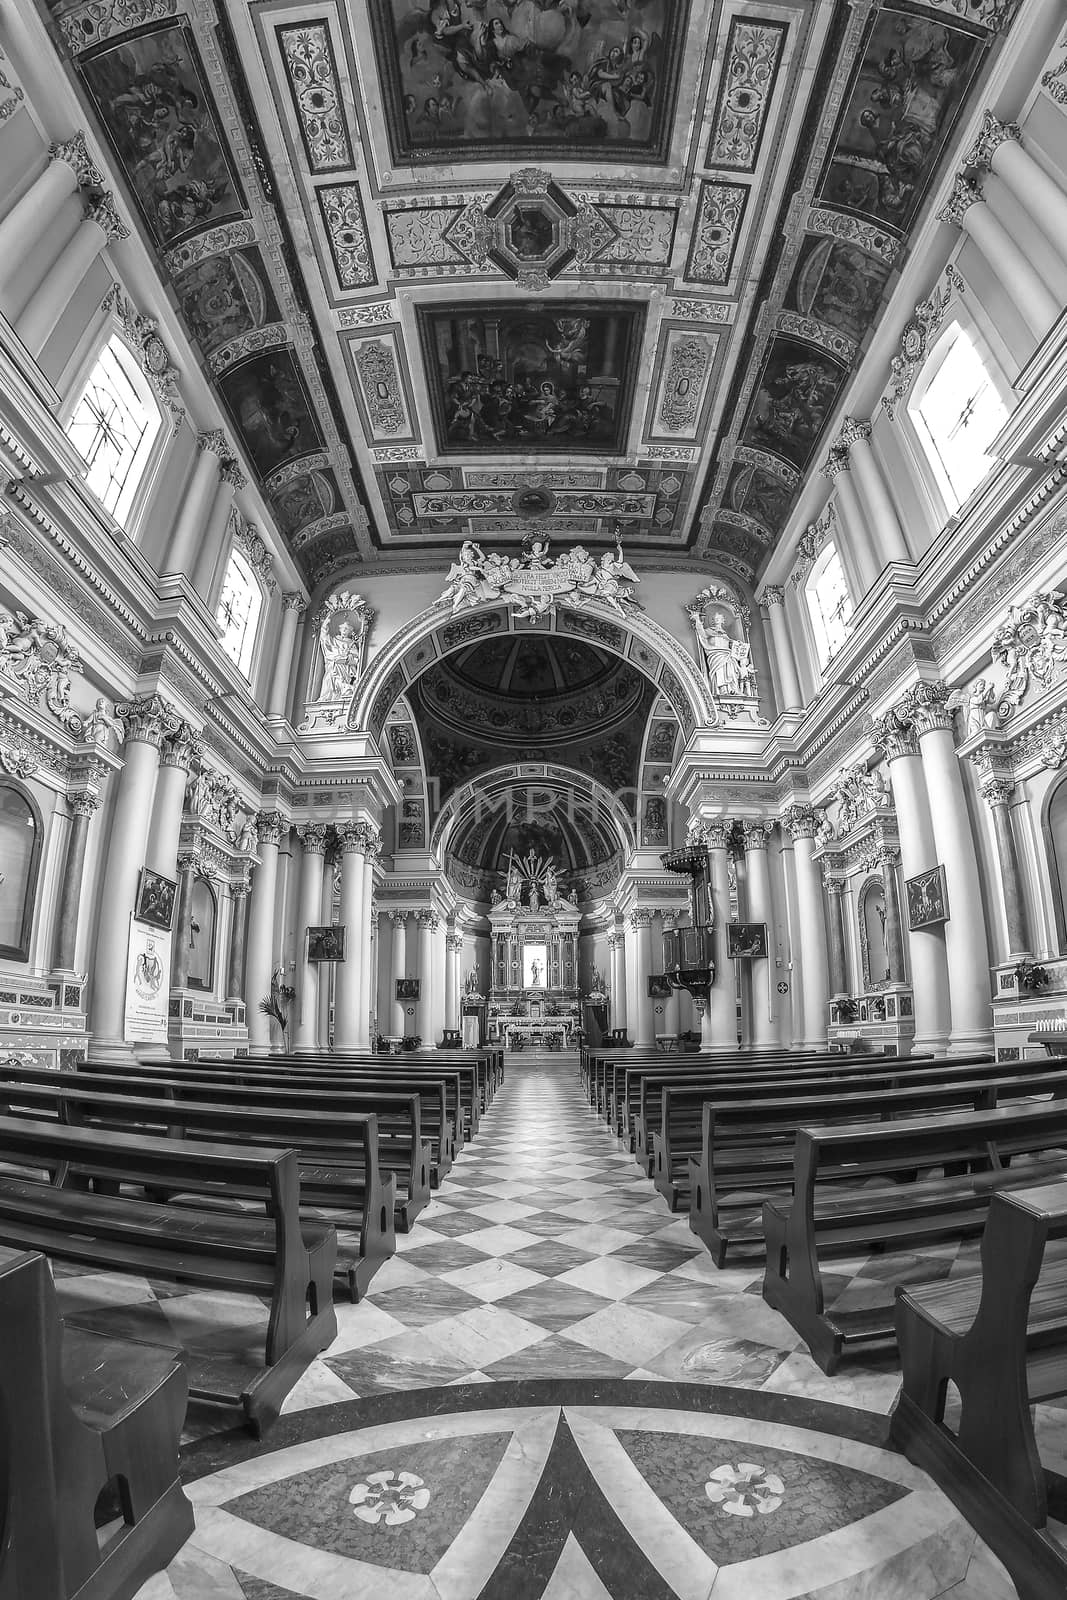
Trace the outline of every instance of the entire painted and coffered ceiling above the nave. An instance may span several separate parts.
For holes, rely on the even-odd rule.
[[[56,0],[310,586],[608,542],[750,581],[1014,0]]]

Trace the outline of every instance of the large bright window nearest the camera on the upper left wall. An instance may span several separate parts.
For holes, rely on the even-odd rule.
[[[86,461],[86,486],[115,522],[130,514],[162,426],[147,378],[112,334],[67,422],[67,437]]]

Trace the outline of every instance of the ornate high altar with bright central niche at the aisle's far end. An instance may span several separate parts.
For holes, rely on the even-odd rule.
[[[577,925],[552,862],[512,858],[507,893],[490,910],[493,982],[490,1038],[507,1050],[563,1050],[579,1026]]]

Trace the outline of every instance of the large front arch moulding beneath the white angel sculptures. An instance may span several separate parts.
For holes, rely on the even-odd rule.
[[[438,602],[402,627],[374,658],[352,698],[349,728],[368,731],[378,739],[397,696],[432,662],[494,634],[544,634],[544,622],[549,624],[549,632],[584,638],[640,667],[673,707],[686,739],[694,728],[715,722],[707,683],[693,656],[646,616],[622,619],[606,608],[557,608],[536,629],[530,629],[517,622],[507,606],[488,603],[451,616],[445,603]]]

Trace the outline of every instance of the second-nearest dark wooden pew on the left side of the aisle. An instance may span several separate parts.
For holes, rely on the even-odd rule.
[[[187,1358],[190,1395],[242,1405],[254,1434],[274,1422],[296,1379],[334,1339],[338,1237],[323,1222],[301,1221],[296,1150],[0,1117],[0,1160],[56,1179],[0,1174],[0,1243],[270,1301],[262,1366],[242,1381],[237,1395],[222,1395],[214,1373],[202,1378],[195,1357]],[[112,1186],[170,1189],[213,1202],[237,1192],[256,1195],[266,1214],[72,1189],[72,1168]]]

